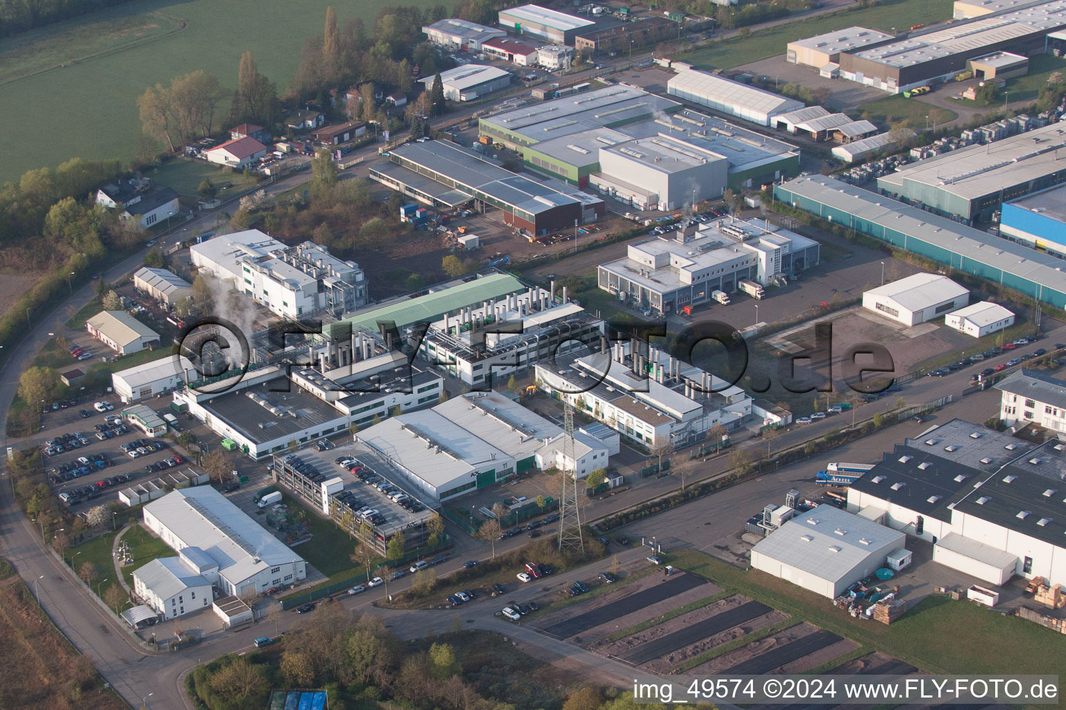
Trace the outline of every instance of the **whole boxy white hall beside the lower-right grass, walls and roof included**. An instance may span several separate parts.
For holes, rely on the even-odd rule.
[[[752,548],[752,566],[835,599],[887,566],[906,535],[884,525],[819,506],[786,521]]]

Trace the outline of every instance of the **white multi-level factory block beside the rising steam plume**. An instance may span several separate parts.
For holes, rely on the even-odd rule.
[[[312,242],[288,247],[253,229],[194,244],[190,253],[195,266],[282,317],[340,315],[369,300],[359,265]]]

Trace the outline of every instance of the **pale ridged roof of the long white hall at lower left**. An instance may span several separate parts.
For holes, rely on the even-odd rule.
[[[199,547],[235,587],[260,571],[302,561],[261,525],[210,485],[174,491],[145,506],[182,547]]]

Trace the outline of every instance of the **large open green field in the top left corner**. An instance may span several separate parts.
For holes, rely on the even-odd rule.
[[[409,0],[407,4],[429,6],[436,0]],[[6,127],[0,136],[0,153],[5,158],[0,181],[72,156],[131,158],[141,141],[136,97],[147,86],[204,69],[233,87],[245,50],[254,52],[259,70],[284,92],[300,62],[304,38],[322,32],[328,5],[337,11],[341,24],[360,17],[371,31],[374,16],[385,6],[367,0],[309,0],[298,5],[258,0],[142,0],[52,26],[35,35],[37,43],[0,43],[0,67],[17,64],[25,71],[34,61],[29,54],[52,57],[45,64],[68,64],[0,86],[0,121]],[[143,44],[130,47],[127,43],[126,49],[118,49],[111,36],[114,28],[123,22],[148,24],[144,15],[154,12],[183,23],[182,29],[144,35]],[[161,27],[162,22],[157,21]],[[55,45],[67,44],[60,38],[67,27],[79,28],[78,36],[83,38],[76,51],[56,61],[61,55]],[[224,115],[225,108],[220,113]]]

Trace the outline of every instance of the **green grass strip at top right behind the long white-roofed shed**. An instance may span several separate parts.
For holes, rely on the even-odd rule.
[[[698,69],[730,69],[785,53],[785,46],[803,37],[860,27],[891,32],[951,17],[951,0],[882,0],[873,7],[778,24],[748,39],[733,38],[685,52],[679,59]]]

